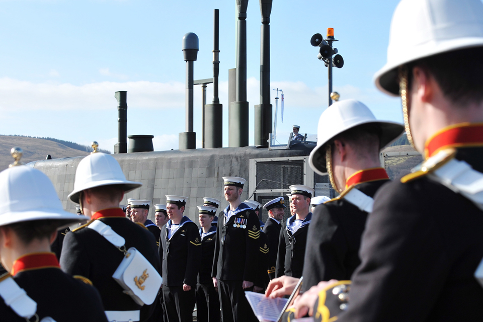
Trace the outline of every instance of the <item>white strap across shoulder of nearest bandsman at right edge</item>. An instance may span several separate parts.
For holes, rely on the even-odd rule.
[[[483,210],[483,173],[458,159],[451,159],[429,176],[473,202]]]

